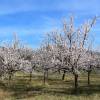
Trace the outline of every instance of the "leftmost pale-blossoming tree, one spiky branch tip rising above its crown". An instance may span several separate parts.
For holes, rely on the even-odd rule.
[[[3,43],[0,47],[0,76],[9,81],[18,71],[30,72],[33,69],[33,50],[22,46],[14,33],[12,43]]]

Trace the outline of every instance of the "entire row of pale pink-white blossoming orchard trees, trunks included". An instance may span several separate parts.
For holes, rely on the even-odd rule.
[[[99,55],[91,49],[89,32],[97,17],[75,28],[74,19],[63,20],[62,29],[47,34],[45,41],[37,50],[20,45],[16,35],[14,41],[0,48],[0,76],[9,80],[17,71],[30,74],[33,70],[44,73],[44,83],[48,73],[66,73],[74,76],[75,89],[78,87],[78,76],[82,71],[88,72],[88,84],[92,70],[99,68]]]

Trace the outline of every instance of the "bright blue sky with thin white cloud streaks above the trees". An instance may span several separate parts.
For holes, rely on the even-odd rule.
[[[100,0],[0,0],[0,41],[11,40],[16,32],[21,41],[37,48],[45,33],[70,15],[79,26],[100,15]],[[95,48],[100,44],[99,22],[91,31],[95,33]]]

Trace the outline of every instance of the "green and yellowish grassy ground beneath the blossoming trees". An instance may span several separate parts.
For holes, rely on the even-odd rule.
[[[100,74],[91,75],[91,85],[87,85],[87,76],[80,75],[77,94],[74,93],[74,81],[71,74],[66,74],[64,81],[61,75],[50,75],[46,85],[41,74],[29,76],[16,74],[8,80],[0,81],[0,100],[100,100]]]

